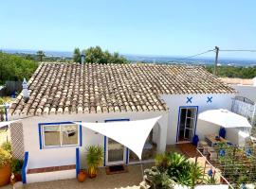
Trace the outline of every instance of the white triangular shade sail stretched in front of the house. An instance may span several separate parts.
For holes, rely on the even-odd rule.
[[[134,153],[136,153],[139,160],[141,160],[143,146],[158,119],[160,119],[160,116],[152,119],[125,122],[115,121],[107,123],[74,123],[82,125],[84,128],[92,129],[119,142],[121,145],[128,147]]]

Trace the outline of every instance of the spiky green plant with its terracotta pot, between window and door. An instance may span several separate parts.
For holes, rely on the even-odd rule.
[[[103,161],[102,146],[88,146],[86,154],[87,174],[89,178],[95,178],[98,173],[98,166]]]

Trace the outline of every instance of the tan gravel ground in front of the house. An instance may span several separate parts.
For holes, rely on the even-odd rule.
[[[151,163],[143,164],[143,168],[151,167]],[[106,175],[105,168],[101,168],[96,179],[86,178],[84,182],[77,180],[56,180],[41,183],[30,183],[26,189],[139,189],[139,182],[142,181],[140,164],[129,165],[127,173]],[[10,189],[11,186],[5,186],[1,189]]]

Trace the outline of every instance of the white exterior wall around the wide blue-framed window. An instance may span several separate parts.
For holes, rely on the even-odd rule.
[[[82,121],[82,122],[104,122],[106,119],[130,120],[146,119],[162,115],[158,121],[160,126],[158,137],[155,137],[158,151],[164,151],[166,146],[166,134],[168,123],[168,112],[112,112],[112,113],[94,113],[94,114],[53,114],[45,116],[34,116],[22,121],[24,126],[24,146],[28,151],[28,168],[38,168],[47,166],[60,166],[76,163],[76,147],[64,146],[58,148],[40,149],[39,140],[39,123],[53,123],[65,121]],[[138,126],[139,127],[139,126]],[[154,133],[155,135],[155,133]],[[131,139],[134,140],[134,139]],[[104,146],[104,137],[90,129],[82,127],[82,146],[81,166],[85,165],[85,148],[91,145]]]

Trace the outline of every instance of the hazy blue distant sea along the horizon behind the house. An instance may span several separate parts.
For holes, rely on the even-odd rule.
[[[0,49],[1,50],[1,49]],[[36,54],[35,50],[12,50],[12,49],[2,49],[3,52],[10,54]],[[68,51],[44,51],[47,57],[64,57],[71,58],[72,52]],[[144,55],[122,55],[131,61],[143,61],[151,63],[178,63],[178,64],[191,64],[191,65],[210,65],[214,64],[214,58],[192,58],[184,59],[184,57],[174,57],[174,56],[144,56]],[[240,59],[219,59],[218,65],[228,65],[228,66],[256,66],[256,60],[240,60]]]

